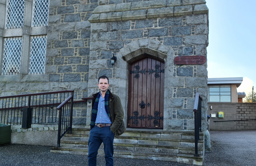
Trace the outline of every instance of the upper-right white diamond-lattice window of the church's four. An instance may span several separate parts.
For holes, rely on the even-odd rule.
[[[34,0],[32,26],[47,26],[48,13],[49,0]]]

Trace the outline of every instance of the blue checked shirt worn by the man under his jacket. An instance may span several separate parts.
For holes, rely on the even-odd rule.
[[[100,92],[101,95],[101,92]],[[106,112],[105,109],[105,96],[104,98],[102,98],[102,96],[100,96],[99,99],[99,104],[98,104],[98,112],[97,112],[97,117],[96,117],[96,121],[95,123],[99,123],[99,124],[105,124],[105,123],[111,123],[110,118]]]

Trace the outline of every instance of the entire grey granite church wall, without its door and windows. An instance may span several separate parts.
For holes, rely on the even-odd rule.
[[[29,35],[47,34],[45,74],[26,73],[27,53],[27,57],[22,57],[20,75],[0,76],[0,96],[74,90],[74,100],[80,100],[98,92],[97,78],[106,75],[110,78],[109,89],[122,101],[126,122],[129,63],[147,53],[165,61],[164,130],[194,129],[192,108],[196,92],[203,97],[205,130],[207,63],[173,63],[175,56],[207,56],[205,3],[205,0],[50,0],[47,28],[29,27],[31,24],[27,23],[24,30],[19,29],[26,39],[23,48],[29,48]],[[32,3],[26,0],[26,4]],[[25,13],[30,10],[26,7]],[[26,34],[29,28],[31,33]],[[2,36],[0,33],[0,39]],[[110,63],[113,55],[118,58],[115,65]],[[88,126],[90,115],[90,100],[76,104],[73,124]]]

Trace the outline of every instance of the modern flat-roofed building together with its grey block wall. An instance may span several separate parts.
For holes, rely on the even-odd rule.
[[[255,129],[255,104],[243,103],[244,92],[237,92],[242,77],[208,78],[210,130]]]

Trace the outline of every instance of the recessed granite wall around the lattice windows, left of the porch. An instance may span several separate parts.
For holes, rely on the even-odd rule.
[[[0,96],[74,90],[74,100],[87,97],[90,54],[90,22],[87,20],[97,6],[97,0],[50,0],[48,26],[28,27],[31,35],[46,30],[45,73],[0,75]],[[25,7],[26,11],[29,11],[29,6]],[[27,42],[23,40],[23,45],[29,48],[27,38]],[[24,66],[26,64],[22,63],[21,68]],[[86,114],[87,102],[74,104],[73,124],[84,126]]]

